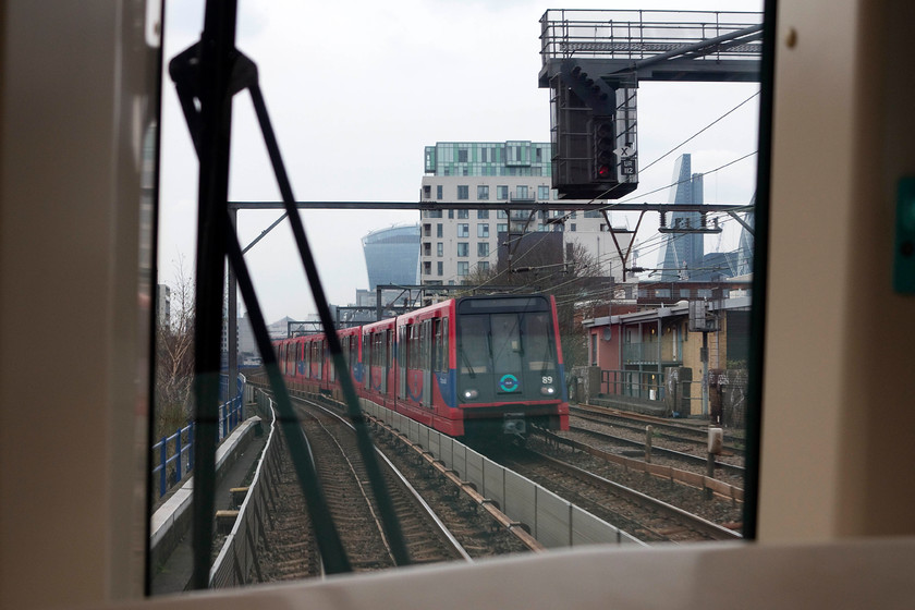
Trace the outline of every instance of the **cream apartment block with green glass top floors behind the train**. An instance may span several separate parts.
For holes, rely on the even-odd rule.
[[[603,215],[606,202],[575,202],[591,210],[551,210],[550,144],[528,141],[440,142],[425,150],[420,198],[441,209],[424,210],[419,276],[426,284],[460,284],[475,271],[498,264],[509,235],[534,231],[563,233],[569,251],[584,246],[606,276],[622,278],[622,265]],[[520,210],[500,204],[526,204]],[[563,199],[563,204],[572,203]],[[461,205],[455,209],[449,205]],[[620,247],[630,235],[617,236]]]

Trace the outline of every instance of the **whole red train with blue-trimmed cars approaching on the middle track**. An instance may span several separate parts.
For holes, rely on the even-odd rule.
[[[452,298],[338,331],[357,392],[453,437],[569,429],[556,302]],[[293,389],[338,395],[324,333],[274,343]]]

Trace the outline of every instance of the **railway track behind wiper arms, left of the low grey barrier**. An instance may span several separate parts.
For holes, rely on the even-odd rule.
[[[349,422],[334,408],[302,399],[295,402],[353,570],[394,566]],[[471,561],[541,549],[523,530],[507,528],[511,524],[504,515],[501,523],[493,518],[495,509],[484,508],[483,499],[475,500],[460,481],[448,480],[444,472],[436,471],[434,460],[406,444],[396,432],[379,427],[377,440],[383,441],[377,448],[380,465],[412,563]],[[274,524],[263,545],[265,581],[321,573],[304,498],[291,464],[285,467],[289,472],[281,477],[283,489],[278,493]]]

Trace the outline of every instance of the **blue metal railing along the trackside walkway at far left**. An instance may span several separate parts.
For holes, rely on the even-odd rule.
[[[222,379],[222,396],[228,393],[225,390],[229,386],[229,381],[224,377]],[[219,405],[218,429],[220,441],[228,437],[244,419],[244,378],[239,377],[235,398],[224,401]],[[156,467],[152,468],[152,480],[156,480],[158,476],[159,498],[164,496],[170,487],[181,483],[184,475],[190,473],[194,467],[194,423],[191,422],[184,428],[179,428],[172,436],[163,437],[152,446],[152,455],[157,457],[158,462]],[[169,456],[170,447],[174,447],[174,452],[171,456]],[[169,467],[171,464],[174,464],[173,468]]]

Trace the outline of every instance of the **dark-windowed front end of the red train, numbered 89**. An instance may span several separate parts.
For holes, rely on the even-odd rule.
[[[532,425],[569,429],[552,296],[467,296],[455,303],[457,402],[464,434],[522,439]]]

